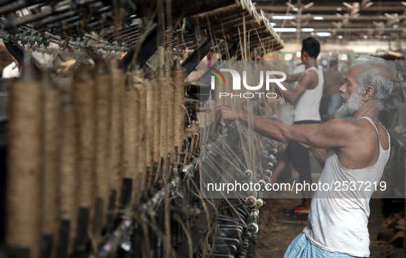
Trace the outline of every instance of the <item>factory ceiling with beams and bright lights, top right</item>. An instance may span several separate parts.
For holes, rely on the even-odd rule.
[[[405,1],[256,0],[285,42],[396,40],[406,36]]]

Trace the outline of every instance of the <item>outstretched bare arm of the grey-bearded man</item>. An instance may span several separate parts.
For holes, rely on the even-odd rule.
[[[244,110],[228,106],[217,109],[218,121],[236,119],[252,123],[256,132],[278,141],[298,141],[313,148],[345,148],[357,141],[359,130],[349,119],[332,119],[325,124],[302,124],[289,126],[280,121],[258,117]]]

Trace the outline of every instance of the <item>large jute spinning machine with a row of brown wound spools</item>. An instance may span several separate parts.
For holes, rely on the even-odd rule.
[[[9,92],[5,257],[247,257],[263,200],[202,198],[200,167],[222,159],[213,146],[231,129],[215,121],[224,103],[196,105],[185,78],[210,51],[252,60],[243,47],[283,47],[251,1],[2,0],[0,14],[22,70]],[[52,45],[79,53],[63,76],[31,57]]]

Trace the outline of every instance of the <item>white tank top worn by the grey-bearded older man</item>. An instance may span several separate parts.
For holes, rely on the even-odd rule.
[[[357,190],[361,185],[361,191],[320,191],[317,189],[311,202],[311,210],[308,213],[308,226],[304,228],[307,239],[324,250],[333,253],[343,253],[356,257],[370,256],[370,234],[368,233],[368,217],[370,216],[370,198],[374,193],[373,183],[379,181],[383,174],[390,156],[390,136],[389,148],[383,150],[379,132],[375,124],[369,117],[367,119],[376,129],[379,140],[379,158],[370,167],[362,169],[347,169],[339,163],[334,150],[328,149],[326,163],[319,182],[337,187],[337,183],[348,182],[370,182],[372,185],[357,183]],[[360,119],[361,119],[360,118]],[[350,184],[350,183],[348,183]],[[344,187],[346,188],[346,187]],[[339,188],[337,188],[339,189]],[[354,189],[354,187],[352,187]]]

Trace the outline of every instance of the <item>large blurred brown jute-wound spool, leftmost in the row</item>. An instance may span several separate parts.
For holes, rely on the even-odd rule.
[[[40,257],[43,89],[30,67],[10,86],[8,121],[7,229],[9,246]]]

